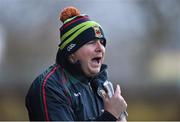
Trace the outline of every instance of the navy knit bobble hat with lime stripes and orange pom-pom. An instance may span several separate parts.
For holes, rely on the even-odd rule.
[[[75,7],[66,7],[60,13],[63,25],[60,28],[59,53],[68,57],[80,47],[94,39],[102,39],[106,45],[106,39],[102,27],[90,20],[88,15],[80,14]]]

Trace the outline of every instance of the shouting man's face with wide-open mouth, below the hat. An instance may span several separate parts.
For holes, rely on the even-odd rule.
[[[81,68],[87,76],[99,73],[104,61],[105,47],[100,39],[92,40],[72,54],[75,61],[79,60]]]

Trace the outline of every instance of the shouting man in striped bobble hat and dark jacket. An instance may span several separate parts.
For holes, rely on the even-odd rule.
[[[56,63],[39,75],[26,96],[30,120],[118,120],[127,104],[119,85],[110,98],[97,93],[107,80],[102,27],[74,7],[60,15]]]

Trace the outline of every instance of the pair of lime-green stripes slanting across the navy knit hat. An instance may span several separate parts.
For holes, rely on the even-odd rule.
[[[94,22],[94,21],[87,21],[87,22],[83,22],[82,24],[77,25],[76,27],[72,28],[70,31],[68,31],[67,33],[65,33],[62,36],[62,40],[63,41],[66,37],[68,37],[70,34],[72,34],[73,32],[76,32],[70,37],[68,38],[66,41],[64,41],[61,45],[60,45],[60,49],[62,50],[67,44],[69,44],[73,39],[75,39],[79,34],[81,34],[83,31],[87,30],[90,27],[93,27],[95,25],[100,26],[98,23]]]

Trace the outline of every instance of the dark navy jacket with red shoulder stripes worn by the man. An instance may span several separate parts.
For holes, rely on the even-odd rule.
[[[32,83],[26,96],[30,120],[116,120],[103,111],[103,101],[98,96],[96,82],[107,79],[106,65],[100,73],[87,78],[77,72],[65,70],[54,64]]]

